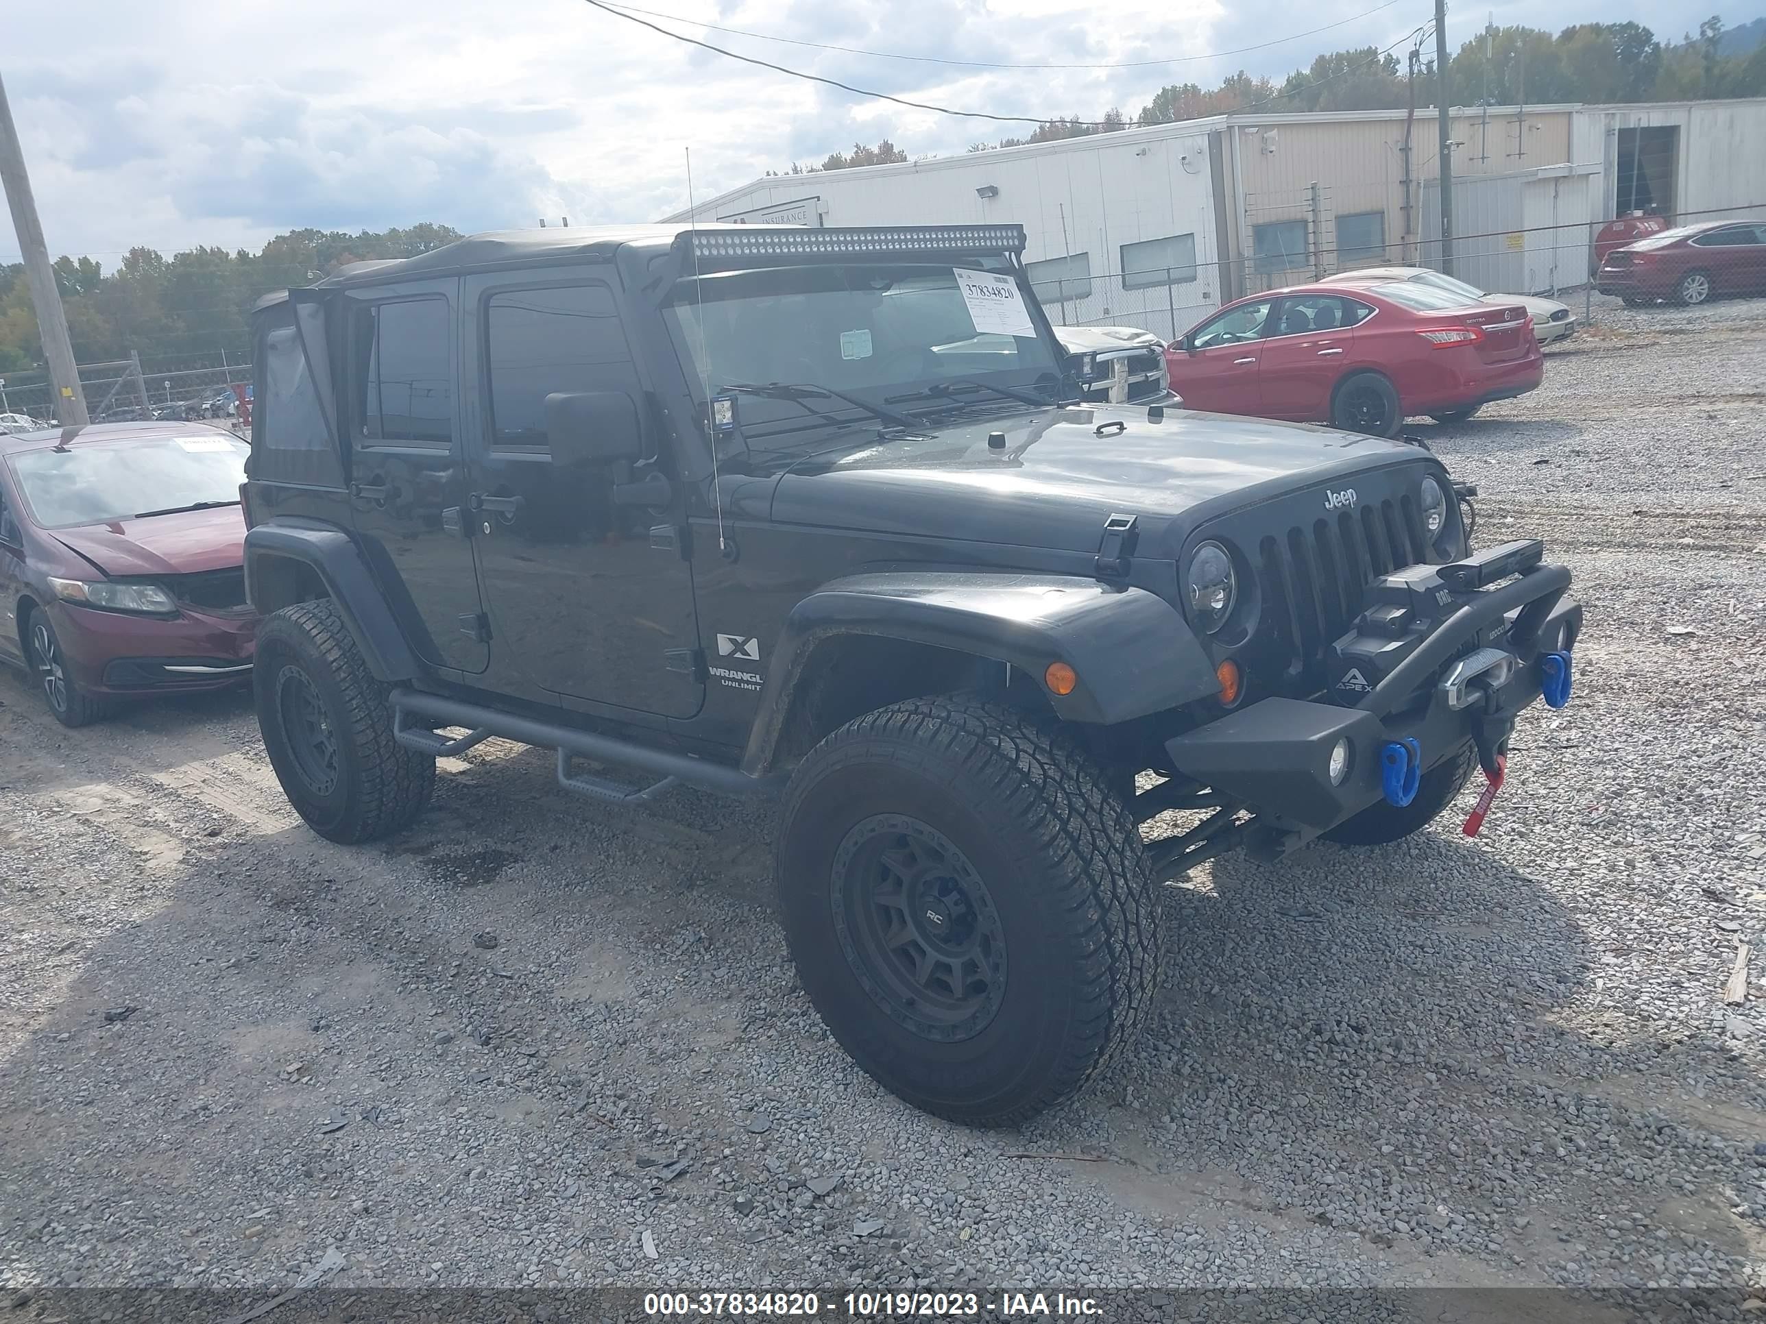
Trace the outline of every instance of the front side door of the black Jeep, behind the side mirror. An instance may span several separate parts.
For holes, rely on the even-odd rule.
[[[652,417],[616,281],[606,268],[464,281],[472,545],[494,636],[491,685],[692,717],[705,685],[678,510],[616,501],[629,475],[556,466],[546,433],[555,392],[625,392]]]

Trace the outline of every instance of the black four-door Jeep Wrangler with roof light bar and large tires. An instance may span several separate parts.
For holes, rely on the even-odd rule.
[[[597,800],[777,800],[834,1036],[1010,1125],[1132,1042],[1164,879],[1494,789],[1568,696],[1568,570],[1469,554],[1420,445],[1079,404],[1023,245],[512,231],[265,298],[245,574],[295,809],[399,831],[487,736]]]

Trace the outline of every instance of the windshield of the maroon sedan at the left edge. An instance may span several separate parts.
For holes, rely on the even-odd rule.
[[[111,524],[150,510],[231,505],[251,447],[231,436],[155,436],[12,455],[25,505],[42,528]]]

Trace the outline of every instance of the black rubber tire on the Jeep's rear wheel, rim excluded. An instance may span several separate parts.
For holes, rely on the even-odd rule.
[[[336,780],[314,787],[302,773],[284,729],[283,687],[311,685],[336,741]],[[351,846],[408,828],[434,791],[433,756],[392,736],[389,685],[369,671],[362,650],[332,602],[283,607],[258,627],[253,690],[263,749],[288,803],[320,837]]]

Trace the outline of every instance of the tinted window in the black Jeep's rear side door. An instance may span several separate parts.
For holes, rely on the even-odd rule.
[[[369,445],[454,443],[452,318],[445,298],[357,312],[357,436]]]

